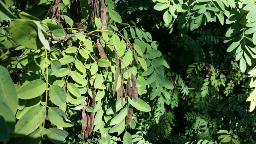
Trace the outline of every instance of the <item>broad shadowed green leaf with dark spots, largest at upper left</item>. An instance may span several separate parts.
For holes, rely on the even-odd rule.
[[[22,19],[11,20],[9,34],[16,43],[28,49],[38,49],[43,46],[37,36],[34,23]]]

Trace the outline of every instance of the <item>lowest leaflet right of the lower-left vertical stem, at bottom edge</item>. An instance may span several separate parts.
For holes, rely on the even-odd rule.
[[[47,137],[54,144],[62,143],[67,136],[68,136],[68,132],[66,132],[65,130],[61,130],[57,128],[47,129]]]

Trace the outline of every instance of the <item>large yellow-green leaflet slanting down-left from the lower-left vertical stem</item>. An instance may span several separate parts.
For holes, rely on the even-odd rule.
[[[42,125],[46,117],[46,107],[35,106],[29,109],[26,114],[17,122],[14,130],[14,137],[24,137],[29,135],[38,126]]]

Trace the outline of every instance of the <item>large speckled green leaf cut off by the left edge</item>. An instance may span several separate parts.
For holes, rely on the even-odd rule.
[[[2,95],[4,94],[5,104],[9,106],[13,114],[16,114],[18,108],[18,94],[11,76],[6,68],[0,65],[0,88]],[[1,95],[0,95],[1,97]]]

